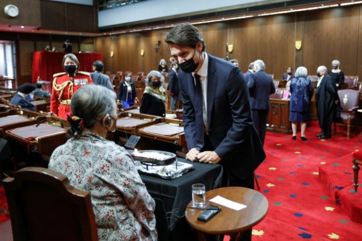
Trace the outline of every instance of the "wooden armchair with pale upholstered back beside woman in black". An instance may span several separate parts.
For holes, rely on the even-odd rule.
[[[341,105],[341,122],[335,125],[347,126],[347,139],[350,138],[351,125],[354,125],[357,134],[357,110],[360,103],[360,91],[358,90],[338,90],[338,97]]]

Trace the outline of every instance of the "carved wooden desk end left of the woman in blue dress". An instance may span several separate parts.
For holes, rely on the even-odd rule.
[[[292,133],[292,124],[289,121],[290,100],[270,99],[271,109],[267,118],[267,130]]]

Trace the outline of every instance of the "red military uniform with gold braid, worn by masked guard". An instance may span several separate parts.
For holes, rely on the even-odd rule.
[[[50,98],[50,111],[66,119],[70,112],[70,99],[73,93],[84,85],[92,85],[90,73],[78,71],[74,77],[69,77],[66,72],[53,75],[53,88]]]

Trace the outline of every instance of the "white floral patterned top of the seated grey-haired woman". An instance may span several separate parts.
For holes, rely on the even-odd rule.
[[[91,193],[99,240],[157,240],[154,200],[123,147],[85,131],[53,152],[49,169]]]

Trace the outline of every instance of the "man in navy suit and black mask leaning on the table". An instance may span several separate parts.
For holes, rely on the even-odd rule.
[[[254,188],[253,172],[265,152],[252,123],[240,69],[207,54],[201,33],[190,24],[175,26],[165,41],[181,69],[186,159],[223,165],[223,186]],[[251,240],[251,230],[244,235]]]

